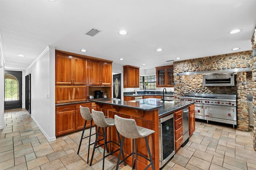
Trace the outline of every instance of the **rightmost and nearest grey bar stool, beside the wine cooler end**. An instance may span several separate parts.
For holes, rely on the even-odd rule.
[[[150,164],[145,169],[147,169],[151,165],[152,169],[154,170],[155,169],[154,162],[153,162],[153,159],[152,159],[152,156],[150,153],[147,136],[152,133],[155,133],[155,131],[153,131],[151,129],[147,129],[145,127],[137,126],[136,121],[134,119],[126,119],[123,117],[119,117],[118,115],[115,115],[114,120],[115,120],[117,131],[123,136],[122,142],[121,142],[121,147],[120,147],[120,152],[119,152],[119,156],[118,156],[118,160],[117,160],[117,164],[116,164],[116,170],[118,170],[119,164],[122,163],[123,161],[125,161],[129,156],[132,155],[132,160],[133,160],[134,154],[135,154],[135,169],[136,170],[137,170],[137,155],[142,156],[143,158],[150,161]],[[120,153],[123,151],[125,137],[132,139],[132,153],[129,154],[126,158],[124,158],[120,162],[120,156],[121,156]],[[146,140],[146,145],[147,145],[148,154],[149,154],[150,159],[148,159],[146,156],[144,156],[142,154],[137,153],[137,139],[141,138],[141,137],[144,137]],[[135,140],[135,152],[134,152],[134,140]],[[132,168],[133,168],[133,161],[132,161]]]

